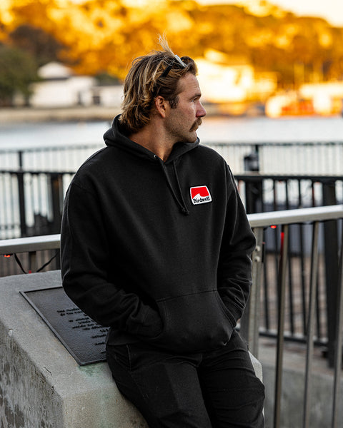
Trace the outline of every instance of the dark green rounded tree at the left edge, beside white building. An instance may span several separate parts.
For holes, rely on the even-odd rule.
[[[0,45],[0,105],[11,106],[16,92],[26,101],[31,95],[30,84],[38,81],[34,58],[18,48]]]

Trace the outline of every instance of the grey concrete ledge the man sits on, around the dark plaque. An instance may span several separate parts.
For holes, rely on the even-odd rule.
[[[148,428],[106,363],[79,366],[19,294],[60,286],[60,275],[0,279],[1,428]],[[262,366],[252,361],[262,377]]]

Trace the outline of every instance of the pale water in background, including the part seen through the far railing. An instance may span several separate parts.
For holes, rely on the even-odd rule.
[[[103,135],[109,121],[73,123],[21,123],[0,125],[0,169],[17,169],[25,153],[26,170],[74,171],[104,146]],[[224,156],[235,174],[244,173],[244,156],[254,151],[254,143],[269,143],[259,150],[259,171],[264,174],[342,175],[343,118],[227,118],[207,117],[198,130],[202,143]],[[294,148],[275,147],[270,143],[324,143]],[[329,142],[339,142],[330,145]],[[230,143],[229,146],[220,146]],[[244,144],[245,143],[245,146]],[[247,146],[247,144],[250,146]],[[81,148],[92,144],[89,148]],[[71,148],[73,146],[74,148]],[[30,152],[55,148],[53,152]],[[57,149],[58,148],[58,149]],[[1,155],[1,150],[11,151]]]

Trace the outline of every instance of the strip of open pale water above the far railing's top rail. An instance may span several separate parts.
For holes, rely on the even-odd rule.
[[[102,143],[110,123],[0,124],[0,150]],[[198,135],[202,143],[343,141],[343,118],[204,118]]]

